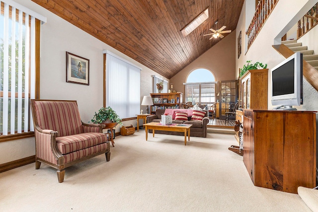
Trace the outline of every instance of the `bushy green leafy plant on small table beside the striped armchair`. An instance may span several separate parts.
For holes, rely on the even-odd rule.
[[[95,112],[93,119],[91,120],[92,123],[95,124],[102,124],[106,120],[111,120],[113,122],[117,122],[120,126],[123,124],[121,123],[121,119],[117,115],[117,113],[111,107],[102,107],[99,109],[98,113]]]

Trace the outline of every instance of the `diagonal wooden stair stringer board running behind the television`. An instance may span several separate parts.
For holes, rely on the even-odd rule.
[[[285,58],[294,54],[294,52],[284,44],[272,45],[272,47]],[[305,79],[318,91],[318,70],[312,67],[305,60],[303,60],[303,75]]]

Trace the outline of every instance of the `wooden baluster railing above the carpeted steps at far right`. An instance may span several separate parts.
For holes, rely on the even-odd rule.
[[[298,21],[297,39],[318,25],[318,2]]]

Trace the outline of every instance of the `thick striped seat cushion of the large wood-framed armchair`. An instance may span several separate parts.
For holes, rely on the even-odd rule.
[[[56,138],[58,149],[62,154],[78,151],[105,141],[107,141],[107,135],[103,133],[81,133]]]

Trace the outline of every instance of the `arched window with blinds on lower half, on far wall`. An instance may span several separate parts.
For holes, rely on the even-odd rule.
[[[210,107],[215,102],[216,81],[213,73],[207,69],[192,71],[186,80],[185,102],[207,105]]]

